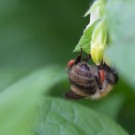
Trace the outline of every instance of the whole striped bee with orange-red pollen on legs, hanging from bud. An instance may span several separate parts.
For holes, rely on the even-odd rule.
[[[71,91],[65,94],[68,99],[99,99],[107,95],[118,82],[116,71],[105,63],[99,66],[88,64],[90,55],[82,59],[81,54],[67,64]]]

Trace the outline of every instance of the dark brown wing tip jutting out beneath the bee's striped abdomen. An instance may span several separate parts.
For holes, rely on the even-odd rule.
[[[75,94],[73,91],[68,91],[65,93],[66,99],[81,99],[84,98],[83,96]]]

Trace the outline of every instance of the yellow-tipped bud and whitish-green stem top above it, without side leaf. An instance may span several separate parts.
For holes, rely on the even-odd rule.
[[[89,11],[85,14],[90,14],[90,23],[87,27],[93,24],[96,20],[99,23],[92,33],[90,42],[90,54],[95,64],[99,65],[104,58],[104,52],[107,44],[107,28],[105,25],[105,7],[107,0],[96,0]]]

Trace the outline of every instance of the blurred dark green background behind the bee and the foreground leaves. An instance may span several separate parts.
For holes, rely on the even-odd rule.
[[[61,66],[66,73],[66,63],[77,55],[72,50],[89,22],[89,17],[83,17],[89,5],[90,0],[1,0],[1,90],[27,73],[49,65]],[[49,94],[63,98],[69,88],[65,80]],[[107,114],[133,133],[134,97],[132,88],[120,79],[106,98],[77,102]]]

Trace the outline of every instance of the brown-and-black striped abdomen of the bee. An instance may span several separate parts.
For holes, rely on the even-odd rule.
[[[72,89],[78,90],[84,94],[91,95],[96,92],[97,83],[95,76],[87,64],[78,64],[69,72],[69,81]]]

